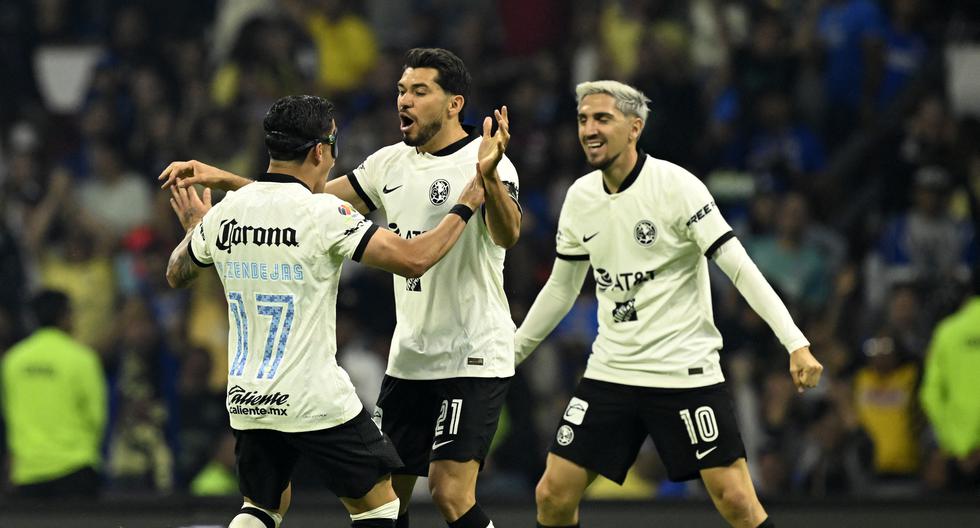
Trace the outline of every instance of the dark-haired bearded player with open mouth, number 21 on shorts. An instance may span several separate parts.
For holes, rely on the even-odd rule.
[[[323,190],[362,213],[381,209],[406,239],[433,229],[471,167],[486,156],[483,141],[462,125],[470,74],[444,49],[412,49],[398,81],[404,142],[378,150]],[[507,108],[495,112],[501,141],[509,139]],[[514,165],[504,157],[482,171],[486,203],[479,218],[423,277],[394,278],[398,318],[388,368],[374,413],[405,462],[392,479],[401,499],[398,527],[409,526],[408,503],[419,476],[449,526],[493,525],[476,502],[476,479],[497,428],[514,374],[514,323],[503,289],[504,250],[517,242],[521,210]],[[250,180],[197,161],[172,163],[164,187],[180,181],[225,189]]]

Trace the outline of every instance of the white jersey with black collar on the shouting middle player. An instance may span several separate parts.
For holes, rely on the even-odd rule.
[[[384,147],[348,174],[388,228],[412,238],[435,228],[476,174],[480,138],[466,137],[435,153],[404,143]],[[516,202],[517,170],[504,157],[497,174]],[[482,214],[456,246],[418,279],[394,277],[397,324],[386,373],[401,379],[514,375],[514,322],[504,295],[504,249]]]

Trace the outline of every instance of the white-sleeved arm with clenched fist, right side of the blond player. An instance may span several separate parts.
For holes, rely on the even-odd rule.
[[[790,375],[797,389],[802,392],[803,389],[816,387],[823,366],[810,353],[810,342],[797,328],[786,305],[749,258],[742,243],[731,238],[718,248],[714,260],[790,352]]]

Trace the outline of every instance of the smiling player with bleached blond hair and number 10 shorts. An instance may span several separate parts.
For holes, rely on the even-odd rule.
[[[576,95],[579,141],[596,170],[568,190],[558,258],[517,330],[516,356],[525,359],[561,321],[590,264],[599,335],[535,492],[538,526],[579,526],[586,487],[597,474],[621,484],[647,436],[669,477],[700,477],[733,526],[773,526],[752,487],[719,367],[707,259],[791,352],[800,390],[817,384],[822,367],[707,188],[637,150],[649,100],[615,81],[582,83]]]

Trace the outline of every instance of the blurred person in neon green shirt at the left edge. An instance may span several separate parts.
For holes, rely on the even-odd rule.
[[[98,354],[74,340],[59,291],[31,301],[38,328],[0,359],[10,481],[21,497],[94,497],[108,403]]]

